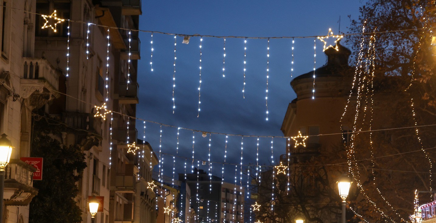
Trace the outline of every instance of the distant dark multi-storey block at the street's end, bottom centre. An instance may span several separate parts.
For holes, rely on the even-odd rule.
[[[221,177],[197,168],[186,176],[179,173],[179,180],[182,182],[181,196],[185,197],[179,206],[191,207],[198,218],[196,222],[244,222],[244,187],[241,189],[239,185],[222,182]],[[190,222],[188,217],[185,219]]]

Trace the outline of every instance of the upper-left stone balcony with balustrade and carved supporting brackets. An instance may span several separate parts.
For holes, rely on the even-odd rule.
[[[36,108],[40,108],[53,97],[58,98],[60,72],[44,58],[24,57],[20,97],[29,98],[30,105]]]

